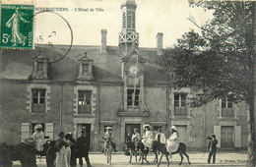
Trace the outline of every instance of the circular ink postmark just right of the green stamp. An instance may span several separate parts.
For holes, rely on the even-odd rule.
[[[72,48],[71,26],[63,16],[52,11],[40,11],[32,18],[35,16],[37,22],[34,36],[36,53],[32,55],[32,58],[43,56],[48,58],[50,63],[60,61]]]

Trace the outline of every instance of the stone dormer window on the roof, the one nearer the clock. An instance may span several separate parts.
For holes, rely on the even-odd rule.
[[[78,81],[93,81],[93,60],[87,56],[82,57],[79,61]]]

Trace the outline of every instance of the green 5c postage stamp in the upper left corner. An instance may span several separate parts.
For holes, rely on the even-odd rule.
[[[33,5],[1,5],[0,48],[33,49]]]

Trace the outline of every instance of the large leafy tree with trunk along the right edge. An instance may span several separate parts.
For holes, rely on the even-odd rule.
[[[214,18],[202,35],[186,32],[177,44],[164,50],[162,71],[172,74],[177,86],[198,85],[200,106],[216,98],[232,96],[248,106],[247,166],[255,166],[255,1],[190,1],[191,7],[213,10]]]

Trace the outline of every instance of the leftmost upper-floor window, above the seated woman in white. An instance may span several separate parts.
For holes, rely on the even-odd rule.
[[[45,89],[32,89],[32,112],[45,112]]]

